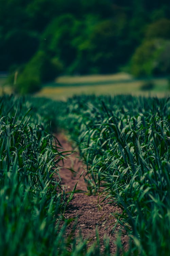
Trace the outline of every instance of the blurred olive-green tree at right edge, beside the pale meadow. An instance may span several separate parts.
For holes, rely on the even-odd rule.
[[[168,75],[170,73],[170,20],[159,19],[146,27],[146,37],[132,57],[135,76]]]

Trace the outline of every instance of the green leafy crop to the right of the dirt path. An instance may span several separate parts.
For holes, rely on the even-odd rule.
[[[62,113],[58,122],[86,162],[88,189],[104,190],[123,210],[117,218],[130,238],[123,255],[168,256],[169,99],[76,96]]]

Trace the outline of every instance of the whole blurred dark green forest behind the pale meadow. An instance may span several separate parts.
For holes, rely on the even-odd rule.
[[[1,0],[0,71],[18,92],[63,74],[169,76],[170,2]]]

